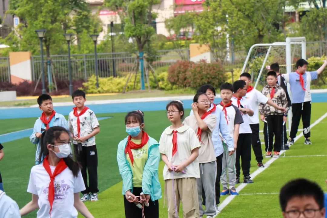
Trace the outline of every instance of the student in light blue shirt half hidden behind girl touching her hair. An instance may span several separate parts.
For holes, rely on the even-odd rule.
[[[215,156],[217,161],[215,198],[216,198],[216,204],[218,205],[220,203],[220,176],[222,172],[222,159],[223,159],[223,151],[224,151],[220,135],[222,135],[223,139],[225,140],[227,144],[227,150],[229,153],[234,152],[235,143],[233,142],[233,138],[229,134],[227,122],[225,120],[225,116],[223,112],[221,111],[221,109],[217,108],[214,103],[215,96],[216,96],[215,88],[210,84],[205,84],[202,85],[197,91],[197,93],[201,93],[201,92],[205,93],[210,100],[210,107],[208,109],[208,112],[216,116],[216,126],[212,132],[212,142],[214,144]],[[193,114],[194,114],[193,110],[191,110],[190,115]],[[203,190],[202,190],[202,198],[203,198],[203,203],[205,203],[205,195]],[[216,212],[219,213],[218,207],[216,208]]]

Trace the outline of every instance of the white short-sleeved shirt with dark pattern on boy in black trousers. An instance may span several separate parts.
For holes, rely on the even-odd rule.
[[[100,126],[98,120],[96,119],[95,113],[91,109],[87,109],[85,113],[79,116],[79,122],[79,137],[90,134],[91,132],[93,132],[95,127]],[[68,124],[69,128],[73,129],[74,136],[77,137],[77,117],[74,116],[74,110],[71,111],[68,115]],[[74,140],[74,144],[78,144],[78,142]],[[82,142],[82,145],[86,147],[95,145],[95,136]]]

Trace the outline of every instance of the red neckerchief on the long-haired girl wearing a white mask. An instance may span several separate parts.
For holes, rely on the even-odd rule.
[[[55,185],[54,185],[54,180],[55,177],[57,175],[59,175],[62,171],[64,171],[64,169],[67,168],[67,165],[65,163],[65,161],[61,158],[59,163],[57,164],[55,171],[53,172],[53,174],[51,173],[51,169],[50,169],[50,165],[49,165],[49,155],[47,155],[44,160],[43,160],[43,167],[45,169],[45,171],[49,174],[50,176],[50,183],[49,183],[49,193],[48,193],[48,199],[49,199],[49,203],[50,203],[50,217],[51,217],[51,210],[52,210],[52,204],[53,201],[55,199]]]

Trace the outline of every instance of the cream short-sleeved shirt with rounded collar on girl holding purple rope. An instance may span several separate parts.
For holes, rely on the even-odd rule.
[[[168,126],[161,134],[159,141],[159,151],[167,156],[168,161],[173,165],[179,165],[185,162],[190,156],[191,151],[195,148],[200,148],[201,145],[198,137],[189,126],[179,127],[177,130],[177,152],[173,155],[173,129]],[[174,172],[174,179],[177,178],[200,178],[200,169],[198,158],[185,167],[184,173]],[[172,173],[168,171],[167,165],[163,167],[163,179],[172,179]]]

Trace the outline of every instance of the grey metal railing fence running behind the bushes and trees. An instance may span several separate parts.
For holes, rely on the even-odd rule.
[[[325,42],[307,42],[307,58],[315,56],[321,57],[327,55],[327,41]],[[235,68],[241,68],[246,57],[246,51],[235,47],[233,61],[224,61],[223,67],[225,71],[232,71]],[[189,60],[188,49],[160,50],[152,59],[151,65],[154,69],[167,67],[178,60]],[[45,76],[51,71],[55,78],[68,78],[68,55],[52,55],[50,61],[46,61],[44,57]],[[145,60],[147,55],[145,54]],[[113,64],[115,66],[116,75],[126,75],[136,70],[138,61],[137,54],[117,52],[117,53],[98,53],[97,65],[100,77],[108,77],[113,75]],[[32,79],[37,80],[41,75],[41,56],[32,56]],[[50,70],[50,71],[49,71]],[[94,54],[71,55],[71,70],[73,79],[87,79],[95,74],[95,57]],[[0,81],[10,82],[9,58],[0,58]]]

